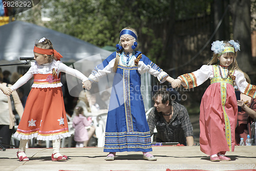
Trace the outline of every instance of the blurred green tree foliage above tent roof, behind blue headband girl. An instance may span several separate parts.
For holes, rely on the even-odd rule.
[[[211,1],[42,1],[45,6],[51,4],[54,7],[50,13],[52,20],[46,25],[48,28],[103,47],[115,46],[119,41],[120,30],[133,27],[139,34],[139,50],[153,61],[163,61],[166,58],[168,36],[173,32],[170,24],[174,23],[174,19],[204,15],[209,12],[209,2]]]

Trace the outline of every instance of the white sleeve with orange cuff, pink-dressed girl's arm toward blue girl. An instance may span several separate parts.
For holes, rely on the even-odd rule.
[[[178,77],[182,82],[184,88],[193,88],[203,84],[212,74],[212,65],[203,65],[200,69],[183,74]]]

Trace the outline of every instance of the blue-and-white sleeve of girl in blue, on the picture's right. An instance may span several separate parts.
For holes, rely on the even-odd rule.
[[[154,77],[157,77],[160,83],[165,82],[164,78],[168,76],[168,74],[163,71],[157,64],[152,62],[145,55],[142,55],[141,60],[138,63],[138,71],[140,74],[144,74],[145,72],[150,73]]]

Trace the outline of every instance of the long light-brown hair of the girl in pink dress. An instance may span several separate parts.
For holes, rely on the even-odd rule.
[[[224,44],[225,44],[225,47],[233,47],[234,48],[234,46],[232,45],[232,44],[230,44],[228,41],[224,41],[223,42]],[[212,56],[212,58],[211,58],[211,60],[210,60],[210,62],[207,64],[207,65],[215,65],[215,64],[218,64],[218,55],[219,54],[214,54],[213,56]],[[222,54],[223,56],[234,56],[234,59],[233,59],[233,62],[229,65],[229,70],[240,70],[240,71],[242,71],[240,68],[239,68],[239,66],[238,66],[238,62],[237,62],[237,52],[235,51],[234,53],[232,53],[232,52],[227,52],[227,53],[224,53],[224,54]],[[221,56],[222,56],[221,55]],[[220,56],[220,57],[221,57]]]

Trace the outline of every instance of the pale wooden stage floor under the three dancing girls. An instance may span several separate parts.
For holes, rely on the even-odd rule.
[[[141,152],[117,153],[114,161],[105,161],[108,153],[103,148],[62,148],[67,161],[51,161],[52,149],[29,148],[26,154],[30,161],[19,162],[17,149],[0,151],[0,170],[242,170],[256,169],[256,146],[236,146],[234,152],[227,152],[231,161],[211,162],[200,151],[200,146],[153,146],[152,154],[157,161],[143,160]]]

